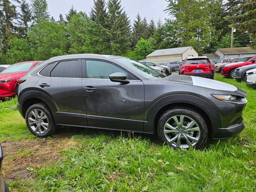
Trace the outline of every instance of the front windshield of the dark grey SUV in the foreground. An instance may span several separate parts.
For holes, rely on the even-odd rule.
[[[138,61],[134,61],[129,58],[114,58],[114,60],[124,64],[131,70],[134,70],[141,76],[147,79],[156,79],[156,78],[163,78],[166,77],[164,74],[152,69],[151,67],[148,67],[147,65],[140,63]]]

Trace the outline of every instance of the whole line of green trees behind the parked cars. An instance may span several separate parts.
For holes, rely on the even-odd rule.
[[[182,46],[210,53],[230,47],[231,27],[234,47],[256,48],[255,0],[166,1],[169,18],[148,22],[138,13],[132,23],[121,0],[94,0],[88,14],[72,6],[57,21],[47,0],[0,0],[0,64],[79,53],[141,60],[156,49]]]

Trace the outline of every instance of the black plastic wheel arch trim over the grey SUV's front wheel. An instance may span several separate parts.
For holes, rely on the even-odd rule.
[[[173,94],[160,98],[148,110],[146,121],[144,122],[144,131],[154,132],[154,120],[156,114],[169,104],[183,103],[190,104],[200,108],[210,118],[212,128],[221,128],[220,117],[216,109],[206,100],[197,96],[188,94]]]

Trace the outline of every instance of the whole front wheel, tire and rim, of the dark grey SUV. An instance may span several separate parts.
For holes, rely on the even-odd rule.
[[[202,149],[208,138],[208,128],[204,118],[196,110],[176,107],[160,117],[158,136],[175,149]]]

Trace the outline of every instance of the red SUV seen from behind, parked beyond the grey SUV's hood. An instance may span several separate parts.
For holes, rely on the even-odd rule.
[[[190,57],[182,61],[180,74],[213,79],[214,69],[214,65],[211,64],[207,57]]]

